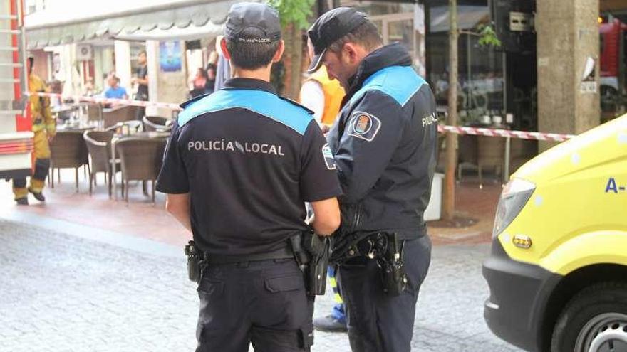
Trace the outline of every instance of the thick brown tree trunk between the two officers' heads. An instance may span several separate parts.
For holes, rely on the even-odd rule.
[[[303,41],[301,31],[289,24],[284,31],[284,90],[283,94],[293,100],[299,100],[302,80]]]

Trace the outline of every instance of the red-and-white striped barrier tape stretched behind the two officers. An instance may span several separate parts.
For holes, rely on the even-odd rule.
[[[142,100],[127,100],[127,99],[110,99],[105,97],[83,97],[75,95],[61,95],[53,93],[28,93],[29,95],[36,95],[38,97],[58,97],[58,98],[71,98],[78,102],[95,102],[102,104],[118,104],[118,105],[133,105],[138,107],[163,107],[170,110],[180,111],[182,108],[175,103],[170,102],[145,102]],[[564,142],[572,137],[574,134],[556,134],[556,133],[544,133],[544,132],[527,132],[527,131],[511,131],[509,129],[488,129],[477,127],[457,127],[457,126],[438,126],[437,130],[440,133],[452,132],[456,134],[474,134],[477,136],[489,136],[489,137],[509,137],[518,139],[535,139],[539,141],[555,141]]]

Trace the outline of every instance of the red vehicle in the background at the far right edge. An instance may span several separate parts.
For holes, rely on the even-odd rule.
[[[599,26],[601,36],[601,109],[619,112],[627,100],[627,24],[613,19]]]

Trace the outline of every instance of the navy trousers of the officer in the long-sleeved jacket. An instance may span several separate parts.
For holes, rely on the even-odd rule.
[[[375,260],[355,258],[339,266],[338,279],[353,352],[409,352],[416,302],[431,262],[427,235],[405,240],[403,262],[408,286],[390,297],[383,292]]]

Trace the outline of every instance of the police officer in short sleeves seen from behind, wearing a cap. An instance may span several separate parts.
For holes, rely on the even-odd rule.
[[[309,232],[305,202],[318,235],[338,228],[334,160],[311,112],[269,83],[276,11],[234,4],[224,33],[234,78],[182,105],[157,180],[202,252],[197,351],[309,351],[313,299],[290,240]]]

